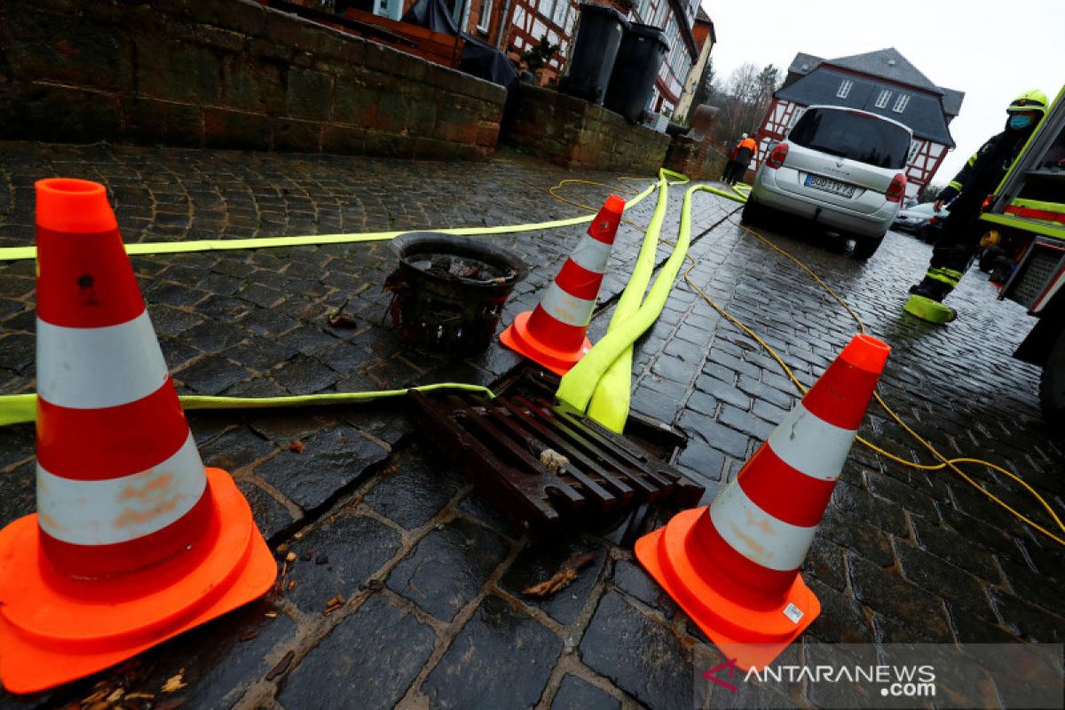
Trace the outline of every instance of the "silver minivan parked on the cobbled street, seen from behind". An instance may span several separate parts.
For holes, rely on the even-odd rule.
[[[867,111],[809,106],[772,146],[754,178],[743,221],[771,212],[813,219],[854,240],[868,259],[906,194],[911,130]]]

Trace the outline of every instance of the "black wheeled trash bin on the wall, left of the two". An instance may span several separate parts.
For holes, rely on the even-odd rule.
[[[559,89],[592,103],[603,103],[626,27],[628,21],[617,10],[581,3],[570,69],[559,82]]]

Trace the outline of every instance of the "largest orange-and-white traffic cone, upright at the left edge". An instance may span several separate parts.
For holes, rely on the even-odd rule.
[[[0,530],[0,680],[81,678],[263,595],[277,565],[204,470],[103,186],[37,188],[37,513]]]

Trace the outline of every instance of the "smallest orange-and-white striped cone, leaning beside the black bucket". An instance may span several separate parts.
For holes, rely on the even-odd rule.
[[[556,375],[568,373],[591,350],[588,324],[624,211],[624,199],[607,198],[539,306],[519,314],[499,334],[504,345]]]

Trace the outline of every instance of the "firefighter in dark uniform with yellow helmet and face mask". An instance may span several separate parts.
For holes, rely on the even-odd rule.
[[[984,201],[998,187],[1046,115],[1047,95],[1037,89],[1025,92],[1010,103],[1006,112],[1005,130],[981,146],[936,196],[933,210],[939,212],[950,202],[950,215],[932,248],[928,273],[920,283],[910,287],[913,297],[906,303],[908,313],[927,320],[953,320],[953,310],[941,301],[957,286],[979,249],[982,230],[978,220]]]

